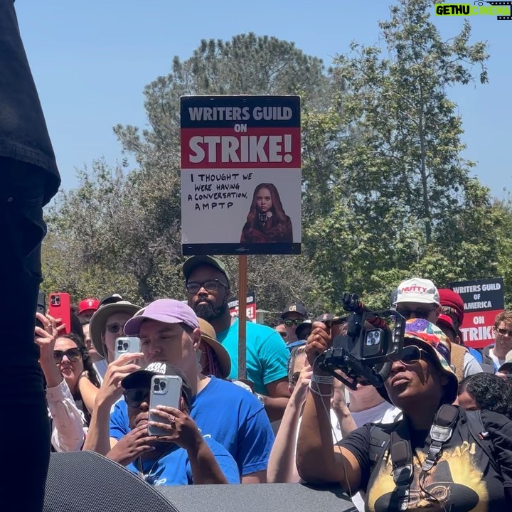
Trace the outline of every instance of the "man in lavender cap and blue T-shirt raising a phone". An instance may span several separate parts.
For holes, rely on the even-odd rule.
[[[151,302],[124,326],[127,336],[139,336],[146,363],[164,362],[177,366],[191,385],[190,417],[206,439],[222,444],[238,465],[242,484],[266,481],[266,469],[274,434],[265,409],[252,393],[238,385],[199,373],[196,351],[201,343],[199,321],[186,304],[172,299]],[[124,357],[124,356],[122,356]],[[124,363],[124,365],[123,365]],[[130,432],[129,414],[120,396],[116,375],[126,372],[127,361],[110,363],[106,383],[97,395],[89,437],[89,449],[108,452]],[[138,369],[138,367],[137,367]],[[110,411],[110,432],[103,431],[102,417]],[[108,446],[110,434],[110,448]],[[105,439],[106,437],[106,439]]]

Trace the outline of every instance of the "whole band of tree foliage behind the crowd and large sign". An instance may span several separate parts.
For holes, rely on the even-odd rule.
[[[253,33],[203,40],[145,87],[144,129],[117,125],[137,166],[95,161],[60,193],[44,242],[46,289],[78,299],[120,292],[144,304],[185,297],[181,265],[179,97],[302,96],[303,252],[249,258],[257,305],[304,300],[338,311],[345,291],[370,306],[412,275],[439,286],[502,275],[510,286],[511,201],[493,201],[462,157],[453,85],[486,83],[486,43],[471,28],[443,41],[432,2],[399,0],[381,46],[352,43],[326,70],[294,43]],[[238,268],[223,257],[237,293]],[[506,295],[511,302],[510,293]]]

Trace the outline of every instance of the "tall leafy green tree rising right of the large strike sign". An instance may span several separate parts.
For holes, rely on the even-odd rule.
[[[411,274],[444,285],[496,267],[492,221],[480,222],[491,218],[489,191],[461,156],[462,119],[448,96],[449,87],[476,80],[476,68],[487,81],[486,43],[469,42],[469,23],[443,41],[431,14],[432,2],[400,0],[379,23],[383,48],[352,43],[335,60],[345,127],[339,198],[311,229],[323,283],[317,292],[328,304],[339,294],[329,282],[383,306]],[[321,245],[326,239],[329,247]]]

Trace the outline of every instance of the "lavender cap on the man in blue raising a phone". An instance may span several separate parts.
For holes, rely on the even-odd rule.
[[[174,299],[159,299],[141,309],[124,326],[127,336],[139,336],[144,320],[161,321],[163,324],[186,324],[191,329],[199,327],[199,320],[193,309],[184,302]]]

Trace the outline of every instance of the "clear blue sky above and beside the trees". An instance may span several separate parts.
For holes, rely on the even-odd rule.
[[[144,85],[169,73],[174,55],[188,58],[202,38],[227,40],[253,31],[294,41],[330,65],[350,41],[378,41],[377,23],[389,17],[390,4],[17,0],[15,5],[63,187],[73,188],[75,169],[101,156],[110,164],[122,158],[112,127],[144,127]],[[462,26],[460,17],[432,19],[444,38]],[[481,183],[503,197],[512,177],[512,21],[471,16],[471,23],[473,40],[489,42],[489,85],[455,87],[449,95],[464,121],[464,156],[477,162]]]

